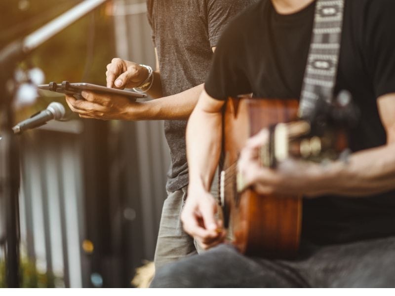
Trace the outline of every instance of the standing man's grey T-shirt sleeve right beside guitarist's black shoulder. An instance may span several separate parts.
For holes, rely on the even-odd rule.
[[[207,26],[210,46],[215,47],[229,24],[244,8],[255,0],[207,0]]]

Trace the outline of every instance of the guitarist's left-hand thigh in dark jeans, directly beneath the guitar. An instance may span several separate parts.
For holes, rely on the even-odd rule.
[[[247,258],[231,245],[220,245],[198,256],[158,270],[153,288],[300,287],[288,268],[274,261]]]

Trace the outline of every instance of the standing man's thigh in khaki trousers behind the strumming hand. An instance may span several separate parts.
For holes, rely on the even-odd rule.
[[[170,193],[163,203],[154,259],[156,269],[196,253],[194,240],[183,230],[180,221],[186,196],[185,187]]]

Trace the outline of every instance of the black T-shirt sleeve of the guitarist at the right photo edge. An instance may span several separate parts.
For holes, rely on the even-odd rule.
[[[395,93],[394,11],[394,0],[371,1],[365,26],[367,60],[377,98]]]

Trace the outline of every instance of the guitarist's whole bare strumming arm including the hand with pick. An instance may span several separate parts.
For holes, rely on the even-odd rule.
[[[181,221],[185,231],[206,249],[225,237],[222,222],[215,219],[216,201],[209,193],[221,149],[223,105],[203,91],[187,127],[190,180]]]

